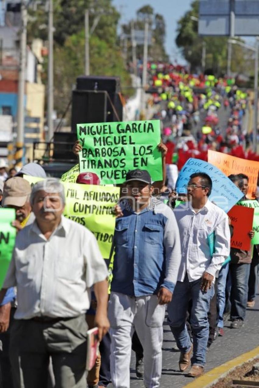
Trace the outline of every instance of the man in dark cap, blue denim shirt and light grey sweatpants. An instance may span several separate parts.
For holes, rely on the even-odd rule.
[[[126,175],[123,216],[116,219],[113,281],[108,305],[111,324],[111,380],[130,387],[131,336],[144,348],[144,384],[159,386],[165,305],[172,299],[181,260],[174,214],[152,197],[146,170]]]

